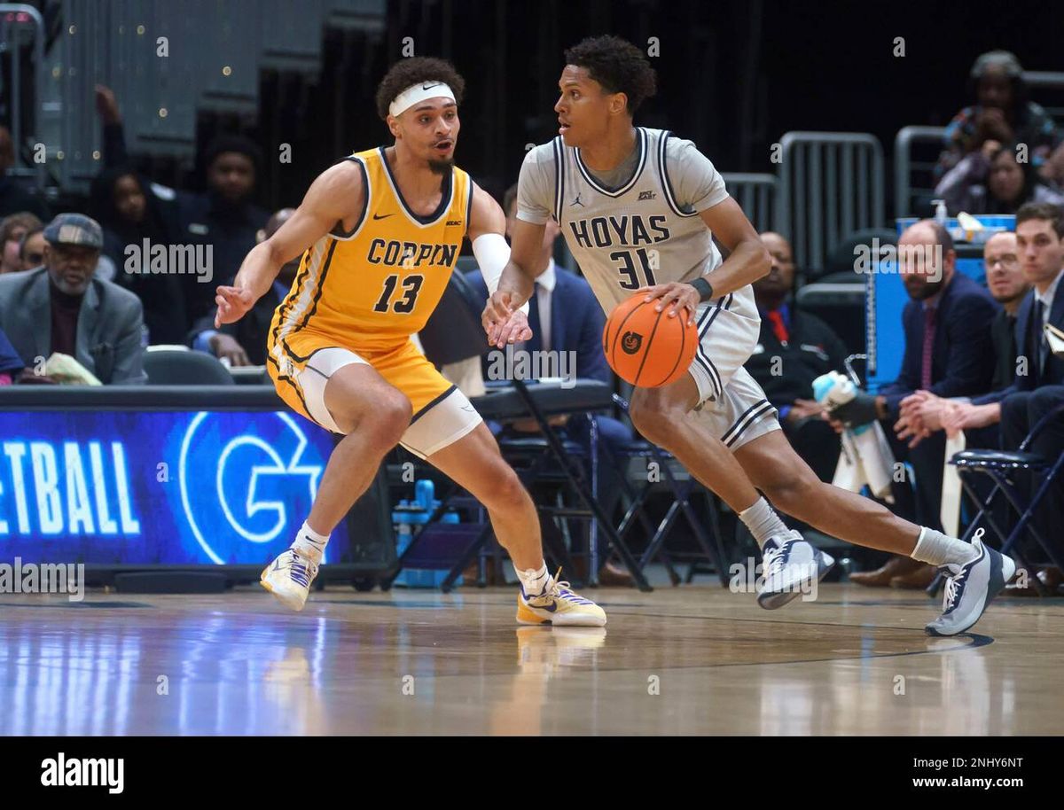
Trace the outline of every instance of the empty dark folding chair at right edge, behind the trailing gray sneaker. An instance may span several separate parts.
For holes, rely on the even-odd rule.
[[[1028,449],[1031,446],[1031,442],[1037,438],[1038,434],[1045,429],[1046,425],[1054,419],[1064,418],[1064,403],[1058,405],[1048,414],[1046,414],[1037,424],[1031,428],[1031,432],[1024,438],[1020,443],[1019,449],[1015,451],[1009,450],[965,450],[955,454],[949,463],[957,467],[958,473],[961,475],[961,486],[964,491],[968,494],[968,497],[972,500],[974,503],[979,504],[979,511],[976,517],[968,524],[967,529],[964,531],[964,536],[961,538],[966,542],[971,542],[971,537],[979,526],[980,521],[985,521],[985,523],[994,530],[998,539],[1002,541],[1001,553],[1012,554],[1016,557],[1016,560],[1020,563],[1023,568],[1033,570],[1030,564],[1028,564],[1018,549],[1018,541],[1023,537],[1024,531],[1028,531],[1035,542],[1042,550],[1046,553],[1049,559],[1054,566],[1064,570],[1064,553],[1062,550],[1046,538],[1042,536],[1042,533],[1035,528],[1031,523],[1035,510],[1038,505],[1045,499],[1046,494],[1049,492],[1057,477],[1060,475],[1061,470],[1064,469],[1064,454],[1059,455],[1055,459],[1044,458],[1034,453],[1029,453]],[[1037,480],[1038,476],[1042,476],[1041,484],[1035,485],[1034,495],[1027,500],[1023,492],[1009,480],[1010,475],[1017,472],[1026,472],[1031,474],[1032,484]],[[988,475],[991,480],[994,482],[994,488],[991,493],[986,496],[984,501],[980,501],[979,495],[975,491],[970,482],[967,479],[968,476],[981,473],[983,475]],[[1005,502],[1019,516],[1019,520],[1016,522],[1012,531],[1005,534],[1000,526],[998,526],[997,521],[994,520],[992,513],[992,508],[995,503],[995,499],[998,497],[998,493],[1004,496]],[[935,576],[934,580],[928,586],[927,593],[929,596],[934,596],[942,586],[944,580],[944,575],[940,572]],[[1040,596],[1048,595],[1045,586],[1038,577],[1031,577],[1031,584],[1037,591]]]

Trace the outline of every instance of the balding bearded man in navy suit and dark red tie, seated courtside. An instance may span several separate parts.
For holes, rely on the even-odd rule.
[[[895,458],[908,459],[916,476],[915,493],[908,482],[894,487],[899,514],[941,528],[942,471],[945,435],[918,437],[917,390],[937,396],[971,396],[990,387],[994,375],[991,322],[998,304],[982,286],[955,271],[957,253],[945,227],[933,220],[911,225],[898,240],[898,269],[911,301],[901,320],[905,351],[898,378],[878,395],[861,393],[836,408],[835,419],[865,424],[879,419],[892,439]],[[864,585],[887,585],[912,573],[920,563],[894,558],[879,571],[851,576]]]

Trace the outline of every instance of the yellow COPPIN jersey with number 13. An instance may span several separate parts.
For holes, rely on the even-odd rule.
[[[403,200],[384,147],[347,159],[362,169],[365,209],[349,233],[337,222],[303,254],[273,314],[271,347],[297,333],[354,350],[395,347],[425,326],[447,288],[469,225],[469,175],[452,167],[439,205],[422,217]]]

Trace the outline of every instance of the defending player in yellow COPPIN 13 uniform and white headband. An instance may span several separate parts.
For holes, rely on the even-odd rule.
[[[329,535],[401,443],[486,508],[520,579],[517,621],[605,624],[605,612],[547,572],[539,522],[480,415],[411,342],[469,238],[485,275],[510,256],[498,204],[453,165],[462,77],[447,62],[409,58],[377,91],[395,144],[322,172],[296,213],[219,287],[216,324],[247,313],[286,261],[299,273],[273,316],[268,369],[292,408],[344,439],[310,516],[262,584],[301,610]]]

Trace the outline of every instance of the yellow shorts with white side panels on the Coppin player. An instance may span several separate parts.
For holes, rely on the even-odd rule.
[[[278,394],[297,414],[327,431],[343,433],[326,407],[326,385],[350,364],[371,367],[410,400],[414,416],[399,443],[420,458],[458,441],[482,421],[465,394],[410,340],[368,348],[297,330],[282,340],[271,336],[267,349],[266,367]]]

